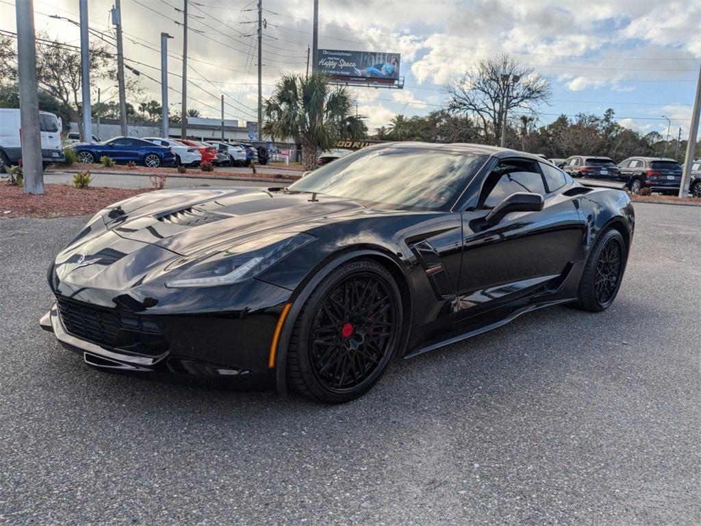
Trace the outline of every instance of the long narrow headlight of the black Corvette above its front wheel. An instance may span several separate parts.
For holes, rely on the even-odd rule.
[[[166,281],[166,287],[215,287],[233,285],[249,278],[254,278],[272,267],[295,250],[311,243],[316,238],[309,234],[295,234],[281,241],[267,245],[265,248],[232,255],[229,252],[205,259],[177,278]]]

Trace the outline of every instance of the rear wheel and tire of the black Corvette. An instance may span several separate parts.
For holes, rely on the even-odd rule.
[[[601,312],[613,304],[625,271],[626,250],[618,230],[608,229],[599,235],[579,282],[576,306]]]

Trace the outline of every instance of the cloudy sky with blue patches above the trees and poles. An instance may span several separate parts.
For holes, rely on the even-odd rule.
[[[23,1],[23,0],[18,0]],[[262,0],[263,89],[282,71],[304,71],[311,44],[312,0]],[[108,36],[112,0],[89,0],[90,24]],[[550,106],[540,123],[559,114],[615,109],[624,126],[666,133],[688,126],[701,61],[701,0],[320,0],[320,48],[387,50],[402,54],[404,90],[354,88],[370,128],[398,113],[426,114],[444,100],[441,87],[476,60],[506,51],[549,77]],[[0,29],[15,31],[14,0],[0,0]],[[257,0],[191,0],[189,107],[255,120]],[[182,0],[122,0],[125,58],[160,79],[161,32],[170,40],[170,83],[182,70]],[[37,30],[79,44],[78,28],[48,18],[78,20],[78,0],[34,0]],[[195,18],[196,17],[196,18]],[[131,61],[131,62],[130,62]],[[140,62],[141,64],[137,63]],[[160,86],[142,76],[149,98]],[[114,88],[104,86],[107,93]],[[170,93],[170,102],[179,102]]]

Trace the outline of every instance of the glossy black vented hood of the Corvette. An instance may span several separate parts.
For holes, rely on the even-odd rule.
[[[177,255],[229,248],[236,240],[281,229],[297,232],[322,218],[360,213],[358,201],[258,188],[154,191],[102,213],[104,227],[125,240]],[[99,233],[96,233],[99,236]]]

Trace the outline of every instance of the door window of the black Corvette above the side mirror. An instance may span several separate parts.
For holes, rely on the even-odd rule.
[[[477,208],[494,208],[503,198],[518,191],[545,195],[543,177],[536,161],[508,159],[501,161],[486,177]]]

